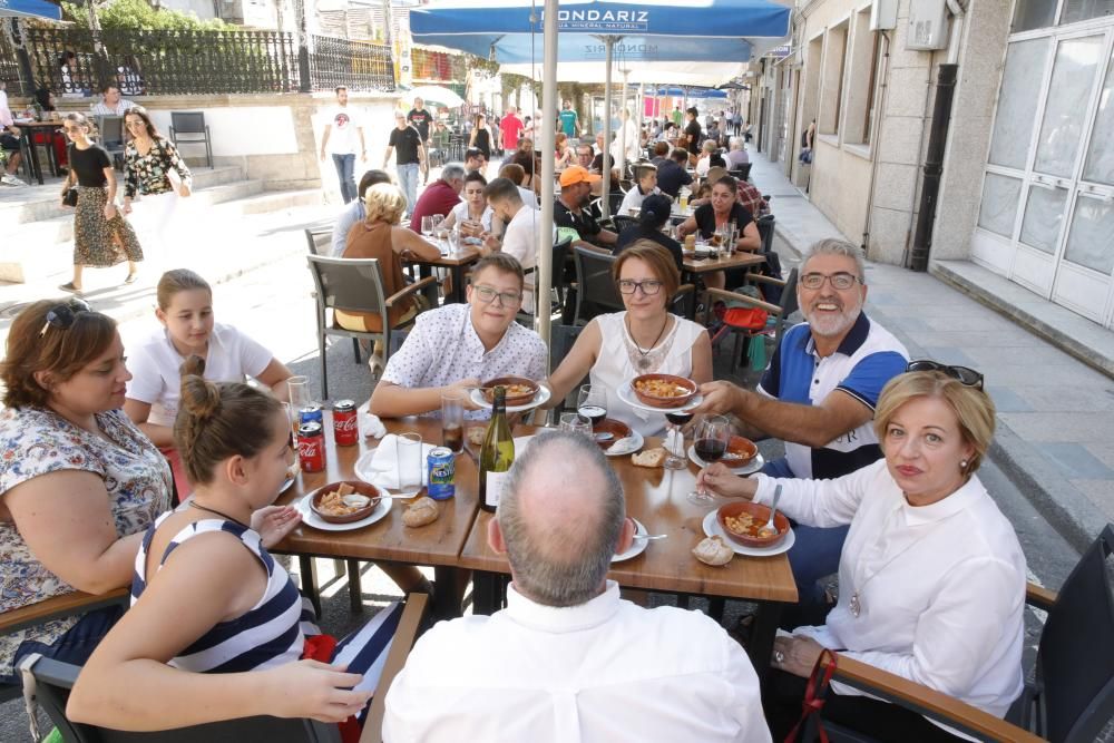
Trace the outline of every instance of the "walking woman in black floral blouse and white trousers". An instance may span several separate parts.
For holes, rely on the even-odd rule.
[[[178,199],[189,196],[193,175],[174,144],[158,133],[147,111],[135,107],[124,117],[131,141],[124,148],[124,214],[131,214],[131,203],[140,196],[139,215],[148,252],[155,255],[155,268],[172,252],[178,213]]]

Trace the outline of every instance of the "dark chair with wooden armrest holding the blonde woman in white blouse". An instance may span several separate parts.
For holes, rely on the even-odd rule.
[[[1114,590],[1107,565],[1114,526],[1083,554],[1059,594],[1028,585],[1025,602],[1048,613],[1036,673],[999,720],[946,694],[839,656],[833,682],[919,712],[979,740],[1091,743],[1114,716]],[[824,722],[831,741],[869,741]],[[807,733],[808,734],[808,733]],[[1035,737],[1039,736],[1039,737]],[[812,740],[811,737],[805,740]]]

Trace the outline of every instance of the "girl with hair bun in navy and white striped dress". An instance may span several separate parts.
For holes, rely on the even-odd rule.
[[[247,384],[184,374],[174,437],[194,499],[148,530],[133,606],[82,669],[68,715],[128,731],[312,717],[346,721],[345,739],[359,735],[350,717],[365,713],[401,605],[320,652],[331,643],[314,637],[312,613],[267,553],[300,520],[270,506],[293,461],[281,403]],[[333,665],[300,659],[306,651]]]

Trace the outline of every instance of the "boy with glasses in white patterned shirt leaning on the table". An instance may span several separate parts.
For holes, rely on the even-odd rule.
[[[465,417],[486,419],[468,399],[470,388],[497,377],[545,379],[546,344],[515,322],[522,304],[521,264],[505,253],[481,258],[471,273],[467,304],[447,304],[418,315],[391,354],[371,394],[371,412],[384,418],[440,416],[441,394],[465,398]]]

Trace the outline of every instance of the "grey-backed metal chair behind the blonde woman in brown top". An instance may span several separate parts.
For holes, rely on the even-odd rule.
[[[413,319],[391,327],[388,311],[422,291],[436,286],[437,280],[427,276],[387,296],[383,289],[383,272],[377,258],[331,258],[323,255],[307,255],[310,272],[316,289],[317,300],[317,351],[321,353],[321,397],[329,398],[329,371],[325,358],[325,338],[340,335],[354,340],[382,341],[383,364],[391,356],[391,335],[401,327],[413,323]],[[331,310],[345,312],[375,313],[382,319],[383,330],[379,332],[344,330],[328,317]],[[359,362],[359,350],[356,352]]]

